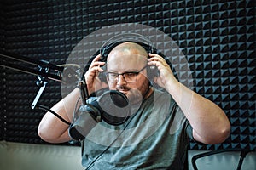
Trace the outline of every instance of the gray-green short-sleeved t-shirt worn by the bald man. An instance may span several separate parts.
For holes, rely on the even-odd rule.
[[[168,93],[154,90],[129,119],[99,122],[84,139],[82,165],[88,169],[187,169],[192,127]]]

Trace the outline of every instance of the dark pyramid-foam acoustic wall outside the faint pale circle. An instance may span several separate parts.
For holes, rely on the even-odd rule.
[[[5,0],[0,20],[0,48],[55,64],[65,63],[83,37],[103,26],[140,23],[163,31],[185,54],[193,90],[221,106],[232,125],[223,144],[191,141],[189,148],[255,150],[254,0]],[[37,134],[45,111],[31,108],[38,78],[3,67],[0,71],[0,140],[47,144]],[[60,99],[61,83],[49,81],[38,103],[51,107]]]

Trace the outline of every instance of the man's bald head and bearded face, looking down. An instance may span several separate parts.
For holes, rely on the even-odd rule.
[[[148,54],[146,52],[142,52],[136,48],[114,48],[108,54],[108,72],[122,74],[125,72],[140,71],[137,74],[136,82],[127,82],[125,77],[122,75],[119,75],[115,82],[108,80],[109,89],[118,90],[125,94],[131,101],[131,104],[140,102],[148,91],[149,82],[146,76],[147,69],[143,69],[143,67],[148,65],[147,55]]]

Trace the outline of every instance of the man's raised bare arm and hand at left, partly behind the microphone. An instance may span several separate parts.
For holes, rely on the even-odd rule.
[[[99,71],[103,71],[100,66],[105,65],[104,62],[99,61],[100,57],[101,56],[98,55],[93,59],[89,70],[85,73],[85,80],[89,94],[98,89],[108,87],[106,83],[101,82],[97,77]],[[67,122],[72,122],[73,111],[79,97],[79,88],[75,88],[71,94],[68,94],[64,99],[61,99],[61,101],[55,104],[51,110],[55,111],[58,115],[67,120]],[[78,105],[81,105],[81,102]],[[66,123],[62,122],[59,118],[48,111],[39,123],[38,135],[50,143],[67,142],[71,139],[68,135],[68,127],[69,126]]]

